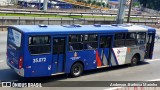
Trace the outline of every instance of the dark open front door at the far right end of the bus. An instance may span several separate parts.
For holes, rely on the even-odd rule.
[[[148,33],[145,59],[152,59],[155,33]]]

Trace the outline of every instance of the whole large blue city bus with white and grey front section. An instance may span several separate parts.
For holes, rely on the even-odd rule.
[[[12,25],[7,64],[22,77],[80,76],[84,70],[152,58],[156,30],[142,25]]]

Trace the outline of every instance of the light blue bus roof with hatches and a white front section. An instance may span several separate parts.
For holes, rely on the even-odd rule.
[[[78,34],[78,33],[115,33],[115,32],[154,32],[155,29],[143,25],[12,25],[24,33],[54,33],[54,34]]]

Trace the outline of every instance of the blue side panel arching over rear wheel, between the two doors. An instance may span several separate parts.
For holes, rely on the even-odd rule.
[[[74,51],[66,53],[65,72],[70,73],[72,65],[81,61],[84,64],[84,70],[97,68],[96,50]]]

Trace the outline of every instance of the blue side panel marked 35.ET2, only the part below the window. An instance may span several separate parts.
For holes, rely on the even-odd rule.
[[[29,62],[31,64],[28,64],[28,60],[30,60]],[[25,59],[27,62],[25,69],[26,76],[51,76],[51,60],[51,55],[28,56],[28,58]]]

